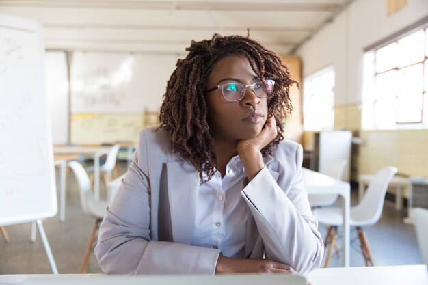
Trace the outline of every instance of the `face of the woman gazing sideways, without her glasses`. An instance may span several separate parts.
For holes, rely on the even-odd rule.
[[[206,84],[206,90],[224,83],[251,85],[260,81],[243,55],[228,55],[213,66]],[[213,139],[234,142],[251,139],[262,131],[267,120],[267,98],[258,98],[251,87],[237,102],[228,102],[222,90],[207,92],[208,120]]]

